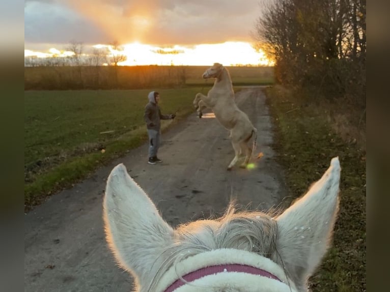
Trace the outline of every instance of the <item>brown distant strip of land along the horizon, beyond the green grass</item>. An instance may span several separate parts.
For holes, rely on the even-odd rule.
[[[210,64],[211,66],[212,64]],[[25,90],[143,89],[199,86],[209,66],[25,67]],[[233,85],[274,82],[273,67],[229,67]]]

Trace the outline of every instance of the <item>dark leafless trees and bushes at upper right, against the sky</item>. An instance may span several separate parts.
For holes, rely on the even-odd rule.
[[[366,108],[366,0],[264,2],[253,37],[278,82]]]

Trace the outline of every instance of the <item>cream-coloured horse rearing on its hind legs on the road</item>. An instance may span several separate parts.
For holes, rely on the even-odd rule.
[[[205,106],[212,109],[218,122],[230,130],[230,139],[235,156],[230,162],[228,170],[231,170],[237,163],[241,154],[245,154],[245,159],[240,167],[245,168],[250,156],[256,149],[257,129],[249,121],[246,113],[237,107],[234,101],[234,91],[230,74],[222,64],[214,63],[213,66],[203,73],[202,77],[205,79],[215,78],[214,85],[207,96],[198,93],[193,104],[197,108],[203,102]],[[254,136],[254,139],[251,148],[248,146],[248,142],[252,136]]]

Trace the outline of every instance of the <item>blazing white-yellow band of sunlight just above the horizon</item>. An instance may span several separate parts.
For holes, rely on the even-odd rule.
[[[120,66],[159,65],[159,66],[208,66],[221,63],[226,66],[273,66],[261,49],[256,49],[246,42],[225,42],[219,44],[198,44],[192,46],[153,46],[138,42],[125,44],[114,49],[110,45],[96,44],[95,49],[106,49],[107,61],[113,56],[124,55],[125,61]],[[91,50],[92,53],[92,50]],[[74,53],[50,48],[46,52],[24,50],[24,57],[68,57]],[[89,51],[83,51],[85,60],[88,60]],[[123,59],[122,59],[123,60]],[[88,65],[86,63],[86,65]],[[107,64],[105,64],[107,65]]]

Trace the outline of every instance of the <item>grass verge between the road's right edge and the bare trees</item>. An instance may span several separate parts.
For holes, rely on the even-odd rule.
[[[266,90],[275,125],[275,151],[285,169],[290,202],[329,166],[341,163],[340,212],[332,246],[310,279],[313,291],[366,291],[366,150],[342,139],[329,109],[302,102],[282,87]]]

